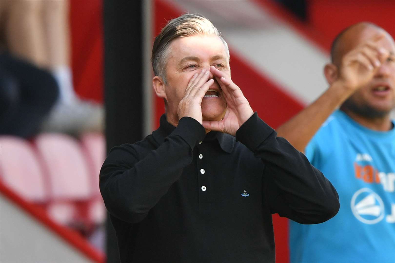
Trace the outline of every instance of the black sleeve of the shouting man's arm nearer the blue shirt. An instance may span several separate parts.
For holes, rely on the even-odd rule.
[[[301,224],[324,222],[339,211],[339,196],[324,175],[284,138],[252,115],[237,131],[236,140],[265,164],[265,195],[272,213]]]

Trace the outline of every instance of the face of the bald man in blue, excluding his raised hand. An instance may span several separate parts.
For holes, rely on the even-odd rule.
[[[366,27],[351,37],[350,47],[354,48],[382,32],[378,28]],[[376,71],[371,82],[355,91],[344,103],[350,110],[370,118],[385,116],[395,108],[395,43],[388,34],[378,43],[390,51],[389,58]]]

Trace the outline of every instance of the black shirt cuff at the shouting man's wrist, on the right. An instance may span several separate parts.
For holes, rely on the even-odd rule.
[[[255,151],[273,132],[275,132],[274,129],[259,118],[258,113],[255,112],[237,130],[236,141],[246,145],[251,151]]]

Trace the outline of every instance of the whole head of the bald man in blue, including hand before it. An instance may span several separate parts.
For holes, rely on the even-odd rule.
[[[352,83],[354,93],[340,106],[363,119],[387,119],[395,108],[395,42],[379,26],[361,22],[335,38],[332,63],[325,65],[329,84]],[[384,87],[384,90],[383,90]]]

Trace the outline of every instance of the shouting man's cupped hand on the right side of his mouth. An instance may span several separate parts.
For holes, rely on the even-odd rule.
[[[210,67],[210,71],[220,85],[228,107],[222,120],[203,121],[203,126],[210,131],[219,131],[235,136],[236,131],[254,112],[243,92],[228,75],[213,66]]]

